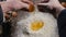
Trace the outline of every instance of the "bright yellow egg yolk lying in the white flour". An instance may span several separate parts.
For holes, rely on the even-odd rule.
[[[31,23],[31,29],[32,30],[38,30],[44,26],[44,23],[42,21],[35,21]]]

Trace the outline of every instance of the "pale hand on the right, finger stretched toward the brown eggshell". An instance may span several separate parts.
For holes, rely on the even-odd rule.
[[[62,11],[64,9],[58,0],[50,0],[47,3],[38,3],[38,5],[47,5],[50,9],[55,8],[58,11]]]

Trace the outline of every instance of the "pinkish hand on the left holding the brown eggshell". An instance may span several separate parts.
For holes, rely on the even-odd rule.
[[[32,4],[32,2],[30,0],[7,0],[4,2],[1,3],[2,10],[3,12],[10,11],[12,9],[14,10],[19,10],[22,8],[26,8],[29,9],[29,3]]]

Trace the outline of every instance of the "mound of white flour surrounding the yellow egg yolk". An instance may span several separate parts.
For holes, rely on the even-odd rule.
[[[36,20],[43,21],[44,26],[40,30],[33,32],[30,25]],[[57,21],[52,14],[37,11],[37,8],[33,13],[20,12],[12,37],[58,37]]]

